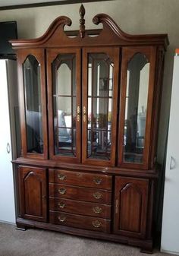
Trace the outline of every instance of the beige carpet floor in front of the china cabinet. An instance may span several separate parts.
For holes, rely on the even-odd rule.
[[[139,248],[0,223],[0,256],[144,256]],[[153,256],[167,256],[154,251]]]

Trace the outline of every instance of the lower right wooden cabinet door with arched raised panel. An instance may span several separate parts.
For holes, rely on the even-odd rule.
[[[115,178],[114,232],[145,238],[149,181]]]

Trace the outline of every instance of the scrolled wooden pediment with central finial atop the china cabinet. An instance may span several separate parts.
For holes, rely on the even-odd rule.
[[[98,36],[89,36],[85,30],[85,9],[80,7],[80,30],[73,38],[68,37],[64,32],[64,26],[71,26],[69,17],[57,17],[49,26],[49,29],[39,38],[33,40],[10,40],[14,49],[30,47],[66,47],[66,46],[139,46],[139,45],[162,45],[168,46],[168,36],[166,34],[157,35],[130,35],[113,21],[107,14],[97,14],[93,17],[93,23],[102,24],[103,29]],[[97,33],[98,34],[98,33]]]

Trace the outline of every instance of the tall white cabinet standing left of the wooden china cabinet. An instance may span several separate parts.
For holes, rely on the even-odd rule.
[[[0,221],[8,223],[15,223],[14,183],[11,164],[13,145],[11,144],[9,115],[10,112],[14,111],[14,105],[9,106],[8,94],[13,90],[12,86],[15,87],[16,85],[16,77],[12,75],[16,68],[15,62],[0,60],[0,112],[2,118],[2,125],[0,125]],[[8,74],[12,75],[11,78]]]

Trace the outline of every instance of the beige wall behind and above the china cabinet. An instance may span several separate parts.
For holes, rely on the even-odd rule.
[[[171,96],[171,77],[174,48],[179,46],[179,1],[178,0],[115,0],[85,3],[86,28],[96,28],[92,18],[99,13],[110,15],[127,33],[168,33],[170,46],[165,61],[165,78],[162,93],[162,114],[159,132],[159,162],[165,150],[165,137]],[[0,21],[17,21],[19,38],[41,36],[58,16],[71,18],[71,29],[79,27],[80,4],[55,5],[39,8],[24,8],[0,11]]]

